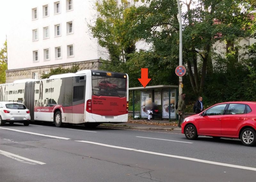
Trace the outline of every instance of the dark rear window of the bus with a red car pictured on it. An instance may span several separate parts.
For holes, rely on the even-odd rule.
[[[126,97],[126,90],[127,83],[125,78],[92,75],[93,95]]]

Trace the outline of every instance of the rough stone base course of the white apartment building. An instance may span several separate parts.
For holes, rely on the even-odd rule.
[[[33,78],[33,72],[38,73],[38,79],[41,78],[44,71],[49,71],[53,68],[71,68],[73,65],[78,65],[79,70],[83,69],[99,69],[100,67],[100,60],[91,60],[91,61],[82,61],[82,62],[72,62],[72,63],[65,63],[65,64],[55,64],[49,66],[40,66],[40,67],[31,67],[31,68],[23,68],[23,69],[10,69],[6,70],[6,83],[12,83],[15,80],[20,79],[28,79]]]

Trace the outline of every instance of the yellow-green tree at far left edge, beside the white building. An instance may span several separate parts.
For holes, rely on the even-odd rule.
[[[0,84],[5,83],[7,70],[7,41],[4,42],[4,47],[0,51]]]

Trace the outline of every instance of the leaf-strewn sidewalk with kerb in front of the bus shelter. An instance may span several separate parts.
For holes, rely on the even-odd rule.
[[[120,128],[120,129],[138,129],[138,130],[181,131],[181,128],[177,128],[176,122],[169,122],[169,121],[165,121],[165,120],[146,121],[146,120],[128,119],[127,123],[101,124],[99,127]]]

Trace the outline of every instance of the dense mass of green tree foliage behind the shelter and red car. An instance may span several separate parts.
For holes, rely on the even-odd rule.
[[[178,85],[174,73],[179,63],[176,0],[143,0],[144,4],[129,8],[125,2],[117,5],[115,0],[103,0],[96,4],[100,15],[91,27],[92,34],[110,53],[101,69],[128,73],[129,87],[141,86],[137,79],[141,68],[148,68],[152,78],[148,85]],[[256,45],[250,47],[251,59],[247,61],[240,55],[247,47],[239,45],[242,38],[256,36],[254,0],[199,0],[183,5],[188,8],[182,15],[183,64],[188,71],[183,84],[188,104],[192,106],[199,94],[205,106],[256,100]],[[138,40],[152,48],[135,52]],[[215,53],[217,41],[226,45],[226,53]]]

